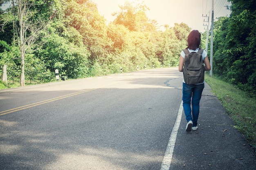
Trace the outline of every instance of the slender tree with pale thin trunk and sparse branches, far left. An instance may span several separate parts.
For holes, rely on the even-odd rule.
[[[34,43],[38,39],[38,34],[45,27],[42,20],[34,20],[38,10],[34,7],[42,5],[43,1],[36,0],[12,0],[14,26],[20,48],[20,86],[25,85],[25,55],[32,49]],[[18,15],[18,18],[17,18]],[[18,21],[17,21],[18,19]]]

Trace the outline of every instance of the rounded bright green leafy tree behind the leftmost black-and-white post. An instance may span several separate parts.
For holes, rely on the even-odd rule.
[[[37,56],[41,58],[47,69],[54,71],[58,68],[61,76],[69,78],[85,77],[88,69],[88,56],[90,52],[84,46],[77,46],[70,39],[51,33],[43,38],[43,48],[38,50]]]

